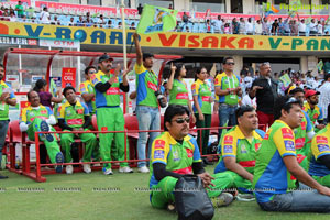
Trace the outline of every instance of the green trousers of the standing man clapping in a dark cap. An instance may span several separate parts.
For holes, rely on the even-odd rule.
[[[98,108],[97,122],[99,131],[124,131],[124,117],[121,108]],[[111,161],[111,145],[114,143],[118,152],[118,160],[125,160],[125,138],[124,133],[100,133],[100,156],[102,161]],[[127,141],[127,158],[129,158],[129,142]],[[128,163],[121,163],[121,167]],[[111,164],[103,164],[105,168],[111,168]]]

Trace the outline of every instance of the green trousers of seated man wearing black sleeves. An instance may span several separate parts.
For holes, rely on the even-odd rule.
[[[81,139],[81,142],[86,143],[82,162],[91,162],[91,154],[96,147],[97,139],[94,133],[81,133],[78,135]],[[61,134],[61,146],[62,150],[64,151],[63,153],[65,156],[65,163],[70,163],[73,161],[70,151],[72,151],[72,143],[74,142],[75,142],[75,134],[73,133]]]

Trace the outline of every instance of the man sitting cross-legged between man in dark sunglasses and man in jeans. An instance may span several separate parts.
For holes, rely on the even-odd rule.
[[[215,169],[216,179],[222,178],[224,188],[238,188],[242,193],[249,193],[252,187],[255,154],[261,146],[264,131],[258,130],[257,114],[250,106],[240,107],[237,112],[238,125],[229,130],[221,142],[221,156]]]

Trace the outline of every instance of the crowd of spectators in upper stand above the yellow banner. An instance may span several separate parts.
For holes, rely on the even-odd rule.
[[[173,7],[169,6],[169,9]],[[143,7],[139,4],[138,12],[141,14]],[[105,29],[121,29],[121,19],[105,18],[103,14],[94,14],[87,12],[86,15],[64,15],[51,14],[45,7],[42,12],[36,13],[32,7],[24,9],[19,1],[13,8],[1,7],[0,20],[12,22],[29,22],[68,26],[94,26]],[[135,30],[139,19],[127,19],[127,29]],[[233,18],[226,20],[218,15],[217,19],[194,19],[184,12],[178,18],[176,32],[193,33],[220,33],[220,34],[246,34],[246,35],[290,35],[290,36],[322,36],[330,34],[330,22],[324,20],[300,19],[299,15],[292,18],[283,15],[274,20],[262,16],[258,20],[254,18]]]

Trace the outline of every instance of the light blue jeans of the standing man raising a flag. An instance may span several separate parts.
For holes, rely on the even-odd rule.
[[[146,106],[136,106],[136,117],[139,121],[139,130],[161,130],[161,113],[158,108],[146,107]],[[160,132],[150,132],[148,139],[148,157],[151,154],[151,147],[153,141],[160,135]],[[147,143],[147,133],[139,132],[138,140],[138,155],[139,160],[145,160],[145,147]],[[138,162],[138,166],[145,166],[146,162]]]

